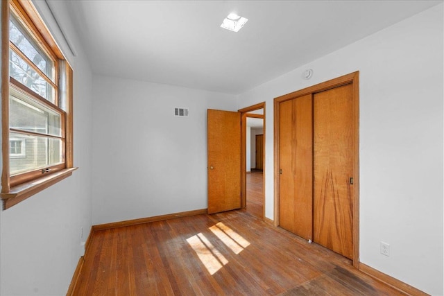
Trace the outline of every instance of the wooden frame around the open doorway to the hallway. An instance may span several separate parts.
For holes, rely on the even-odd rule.
[[[255,110],[263,109],[264,114],[248,114],[248,112],[252,112]],[[253,118],[262,118],[264,119],[264,150],[263,150],[263,159],[262,163],[264,166],[263,175],[262,175],[262,190],[264,192],[264,196],[262,199],[262,219],[265,217],[265,154],[266,154],[266,145],[265,145],[265,102],[257,103],[256,105],[252,105],[249,107],[245,107],[237,110],[237,112],[241,113],[241,208],[245,209],[247,204],[247,117]]]

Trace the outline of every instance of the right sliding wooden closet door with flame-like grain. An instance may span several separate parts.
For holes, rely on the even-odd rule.
[[[352,85],[314,94],[314,242],[352,259]]]

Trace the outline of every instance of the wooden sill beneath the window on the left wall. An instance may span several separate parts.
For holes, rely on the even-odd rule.
[[[65,168],[62,171],[40,177],[37,180],[32,180],[14,186],[7,193],[1,193],[0,197],[1,200],[3,200],[3,210],[9,209],[22,200],[26,200],[26,198],[29,198],[32,195],[48,188],[49,186],[69,177],[72,175],[73,171],[76,171],[76,169],[77,168]]]

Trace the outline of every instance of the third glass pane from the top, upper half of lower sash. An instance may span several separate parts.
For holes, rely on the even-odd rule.
[[[40,105],[25,94],[10,87],[9,127],[26,132],[62,136],[59,113]]]

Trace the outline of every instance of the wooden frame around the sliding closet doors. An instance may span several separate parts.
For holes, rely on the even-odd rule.
[[[341,85],[351,84],[353,88],[353,132],[355,136],[355,146],[353,147],[353,154],[355,158],[355,163],[353,164],[353,170],[355,175],[355,180],[353,184],[352,200],[353,200],[353,226],[352,226],[352,236],[353,236],[353,266],[359,268],[359,71],[334,78],[325,82],[321,82],[317,85],[311,87],[306,87],[305,89],[300,89],[296,92],[291,92],[290,94],[285,94],[284,96],[279,96],[274,98],[274,225],[278,226],[279,223],[279,202],[280,202],[280,182],[279,182],[279,114],[280,114],[280,103],[284,101],[297,98],[299,96],[305,96],[307,94],[315,94],[318,92],[323,92],[328,89],[333,89]]]

